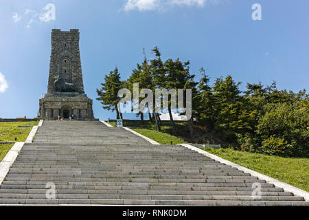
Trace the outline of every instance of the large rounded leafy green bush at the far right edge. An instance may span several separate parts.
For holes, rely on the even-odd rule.
[[[257,135],[264,153],[308,157],[308,105],[267,104]]]

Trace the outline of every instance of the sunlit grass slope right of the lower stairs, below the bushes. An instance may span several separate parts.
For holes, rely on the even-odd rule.
[[[287,184],[309,191],[309,158],[286,158],[259,153],[236,151],[230,148],[202,148],[204,151],[241,166],[258,171]]]

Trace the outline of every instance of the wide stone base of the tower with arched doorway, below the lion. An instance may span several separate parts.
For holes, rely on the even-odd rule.
[[[86,94],[54,93],[45,94],[39,101],[38,118],[43,120],[57,120],[70,118],[74,120],[96,120],[93,118],[92,100]]]

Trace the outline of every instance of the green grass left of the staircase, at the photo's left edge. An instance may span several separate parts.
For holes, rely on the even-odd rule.
[[[32,127],[21,127],[19,125],[38,125],[38,122],[0,122],[0,142],[14,141],[24,142]],[[14,144],[0,144],[0,161]]]

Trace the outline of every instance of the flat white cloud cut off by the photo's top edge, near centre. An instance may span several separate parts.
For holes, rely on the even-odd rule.
[[[171,5],[203,7],[205,4],[218,5],[222,0],[126,0],[124,10],[158,10]]]

